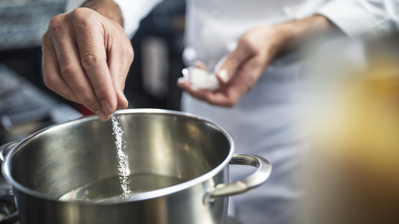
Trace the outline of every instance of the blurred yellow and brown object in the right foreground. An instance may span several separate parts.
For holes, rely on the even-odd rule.
[[[313,128],[308,223],[399,223],[399,60],[335,88]],[[309,217],[308,217],[309,218]]]

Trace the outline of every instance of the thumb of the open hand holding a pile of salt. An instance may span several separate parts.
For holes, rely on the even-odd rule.
[[[229,82],[230,78],[250,56],[248,51],[245,51],[245,49],[242,49],[242,46],[238,45],[233,52],[222,58],[219,62],[221,63],[220,67],[215,71],[220,82]]]

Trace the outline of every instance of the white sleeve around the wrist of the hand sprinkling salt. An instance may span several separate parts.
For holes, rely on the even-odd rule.
[[[86,0],[69,0],[65,12],[80,7]],[[131,39],[139,29],[140,21],[162,0],[114,0],[122,11],[125,33]]]

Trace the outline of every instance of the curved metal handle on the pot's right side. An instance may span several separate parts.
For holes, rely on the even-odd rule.
[[[230,164],[254,166],[258,169],[247,178],[230,184],[218,184],[208,192],[205,203],[212,202],[221,197],[227,197],[235,194],[241,194],[258,187],[268,180],[272,165],[270,162],[260,156],[251,154],[234,154]]]

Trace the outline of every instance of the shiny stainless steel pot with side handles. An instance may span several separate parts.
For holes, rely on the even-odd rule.
[[[101,180],[119,171],[111,121],[91,116],[57,124],[1,147],[3,175],[13,187],[21,224],[226,223],[228,196],[259,186],[271,173],[259,156],[233,154],[231,135],[204,118],[157,109],[120,110],[115,116],[124,130],[135,194],[97,203],[60,201],[88,183],[106,191],[115,183]],[[229,164],[258,168],[228,184]]]

